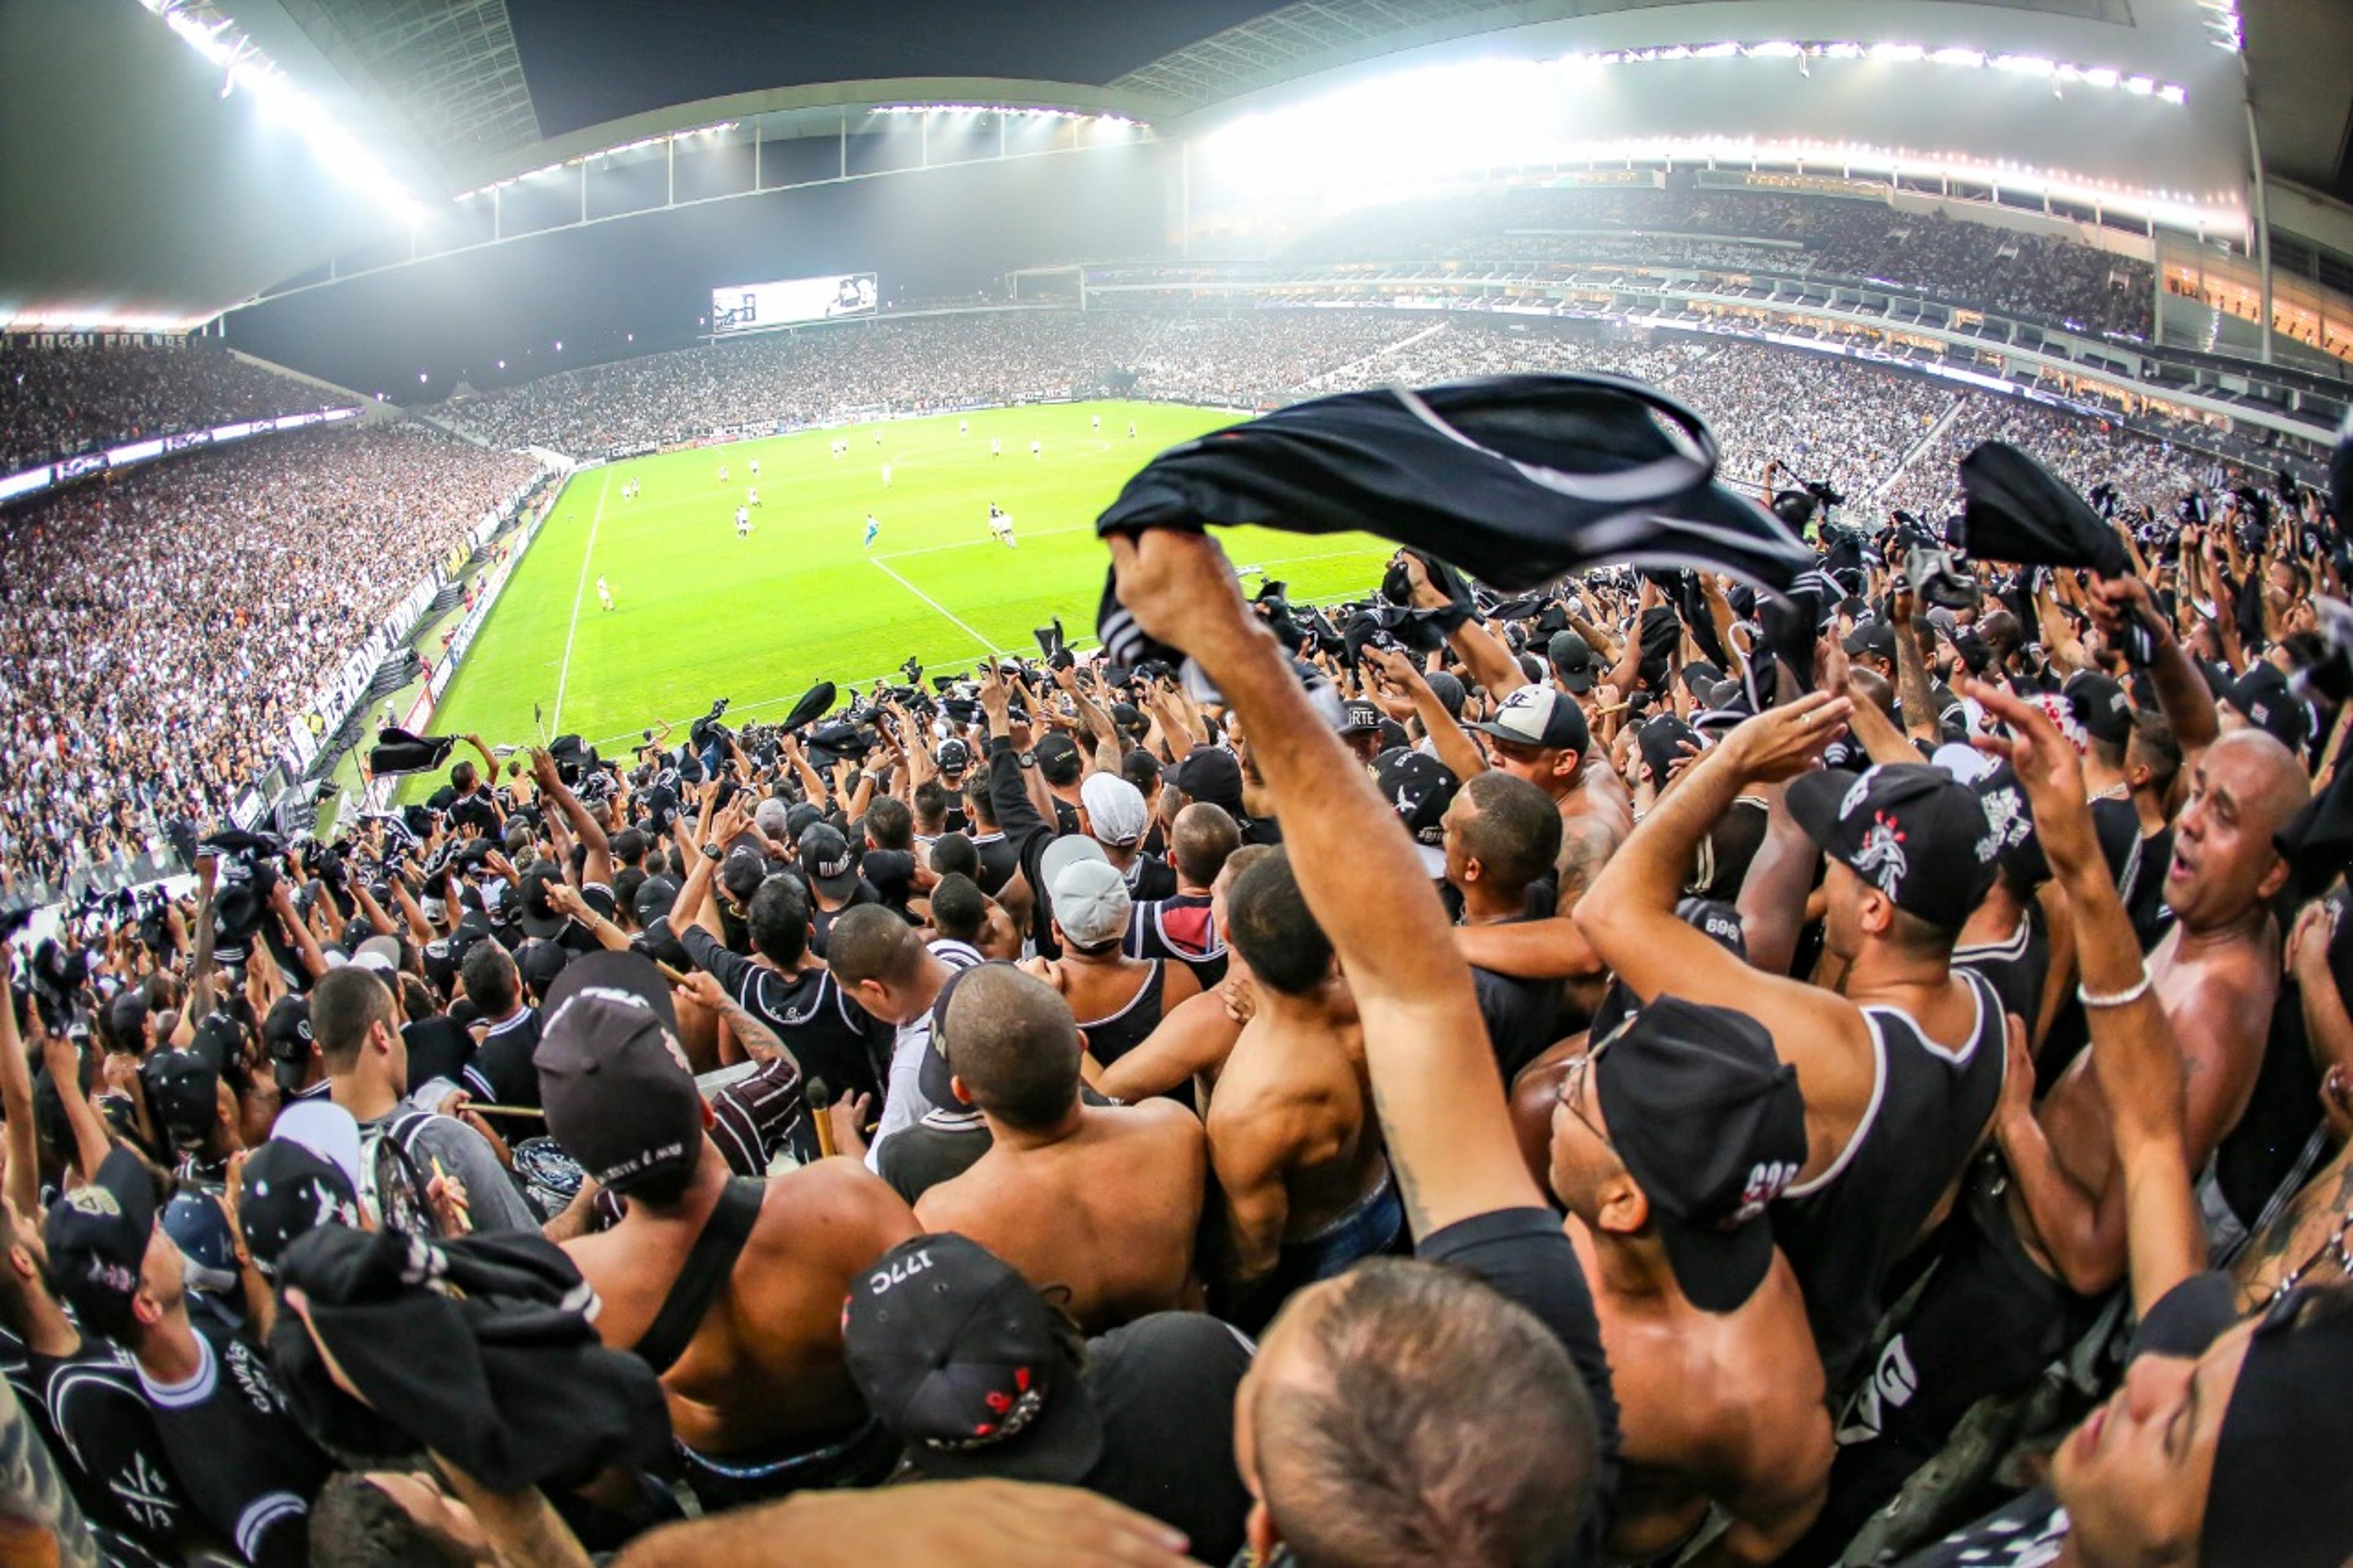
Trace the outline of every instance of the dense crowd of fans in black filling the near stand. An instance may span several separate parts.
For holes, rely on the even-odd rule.
[[[1391,348],[1642,370],[1817,476],[1932,412]],[[1767,424],[1849,396],[1854,459]],[[1348,414],[1155,459],[1191,511],[1108,518],[1104,652],[395,739],[398,815],[0,928],[19,1554],[2341,1568],[2353,445],[2257,494],[1972,400],[2038,450],[1955,563],[1640,494],[1633,398],[1577,405],[1609,506]],[[1195,527],[1372,487],[1341,605]],[[113,574],[245,603],[348,544],[294,532]]]

